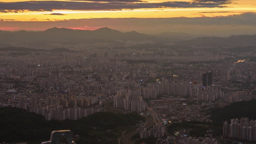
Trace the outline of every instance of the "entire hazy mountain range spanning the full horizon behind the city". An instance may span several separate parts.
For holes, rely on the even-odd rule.
[[[45,46],[47,44],[56,43],[64,45],[93,43],[114,43],[122,45],[127,41],[171,42],[182,46],[235,47],[256,45],[256,35],[230,36],[228,38],[202,36],[204,35],[168,32],[148,35],[135,31],[120,32],[107,27],[100,28],[98,30],[50,28],[48,30],[38,32],[25,30],[8,32],[0,30],[0,47],[11,46],[11,43],[23,44],[25,46]]]

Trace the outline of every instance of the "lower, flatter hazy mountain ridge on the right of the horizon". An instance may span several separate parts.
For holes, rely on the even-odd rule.
[[[254,46],[256,45],[256,35],[239,35],[228,38],[200,37],[176,42],[176,44],[186,46]]]

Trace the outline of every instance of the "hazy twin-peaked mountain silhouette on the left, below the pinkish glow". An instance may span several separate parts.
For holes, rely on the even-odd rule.
[[[98,30],[73,30],[68,28],[50,28],[40,32],[30,32],[21,30],[18,32],[10,32],[0,35],[0,42],[17,42],[26,45],[42,45],[49,43],[60,44],[79,44],[79,43],[95,43],[95,42],[126,42],[127,40],[159,41],[162,38],[157,36],[149,36],[138,32],[120,32],[110,28],[100,28]]]

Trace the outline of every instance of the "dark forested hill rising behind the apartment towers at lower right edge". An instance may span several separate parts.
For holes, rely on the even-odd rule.
[[[256,120],[256,100],[234,102],[223,108],[214,108],[211,111],[211,120],[218,124],[228,121],[232,118],[247,117],[249,120]]]

